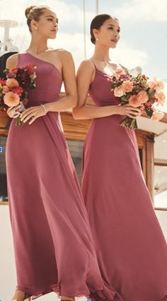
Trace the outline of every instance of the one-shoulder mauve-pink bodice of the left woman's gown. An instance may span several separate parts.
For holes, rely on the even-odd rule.
[[[30,53],[18,53],[18,67],[23,67],[28,63],[36,65],[37,77],[35,89],[28,89],[28,104],[26,104],[26,107],[55,102],[59,98],[62,87],[62,75],[57,67],[50,62],[35,58]]]

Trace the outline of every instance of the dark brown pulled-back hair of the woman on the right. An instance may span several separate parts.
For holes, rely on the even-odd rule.
[[[93,29],[99,29],[100,26],[103,25],[103,23],[108,20],[109,18],[113,18],[115,20],[117,20],[117,18],[113,17],[113,16],[110,16],[106,13],[102,13],[100,15],[97,15],[95,18],[93,18],[93,20],[91,21],[91,27],[90,27],[90,33],[91,33],[91,42],[93,44],[96,43],[96,38],[93,34]],[[117,20],[118,21],[118,20]]]

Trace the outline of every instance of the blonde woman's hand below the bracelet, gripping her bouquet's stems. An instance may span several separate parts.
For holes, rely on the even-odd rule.
[[[28,124],[33,124],[33,122],[41,116],[45,116],[45,109],[42,106],[30,106],[30,108],[25,109],[21,114],[21,121],[25,123],[29,119]]]

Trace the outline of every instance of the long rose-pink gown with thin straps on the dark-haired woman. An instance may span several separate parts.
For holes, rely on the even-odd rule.
[[[118,104],[96,68],[96,106]],[[125,301],[167,300],[167,245],[154,213],[134,131],[124,116],[93,119],[84,143],[82,192],[105,283]],[[114,298],[115,300],[115,298]]]

